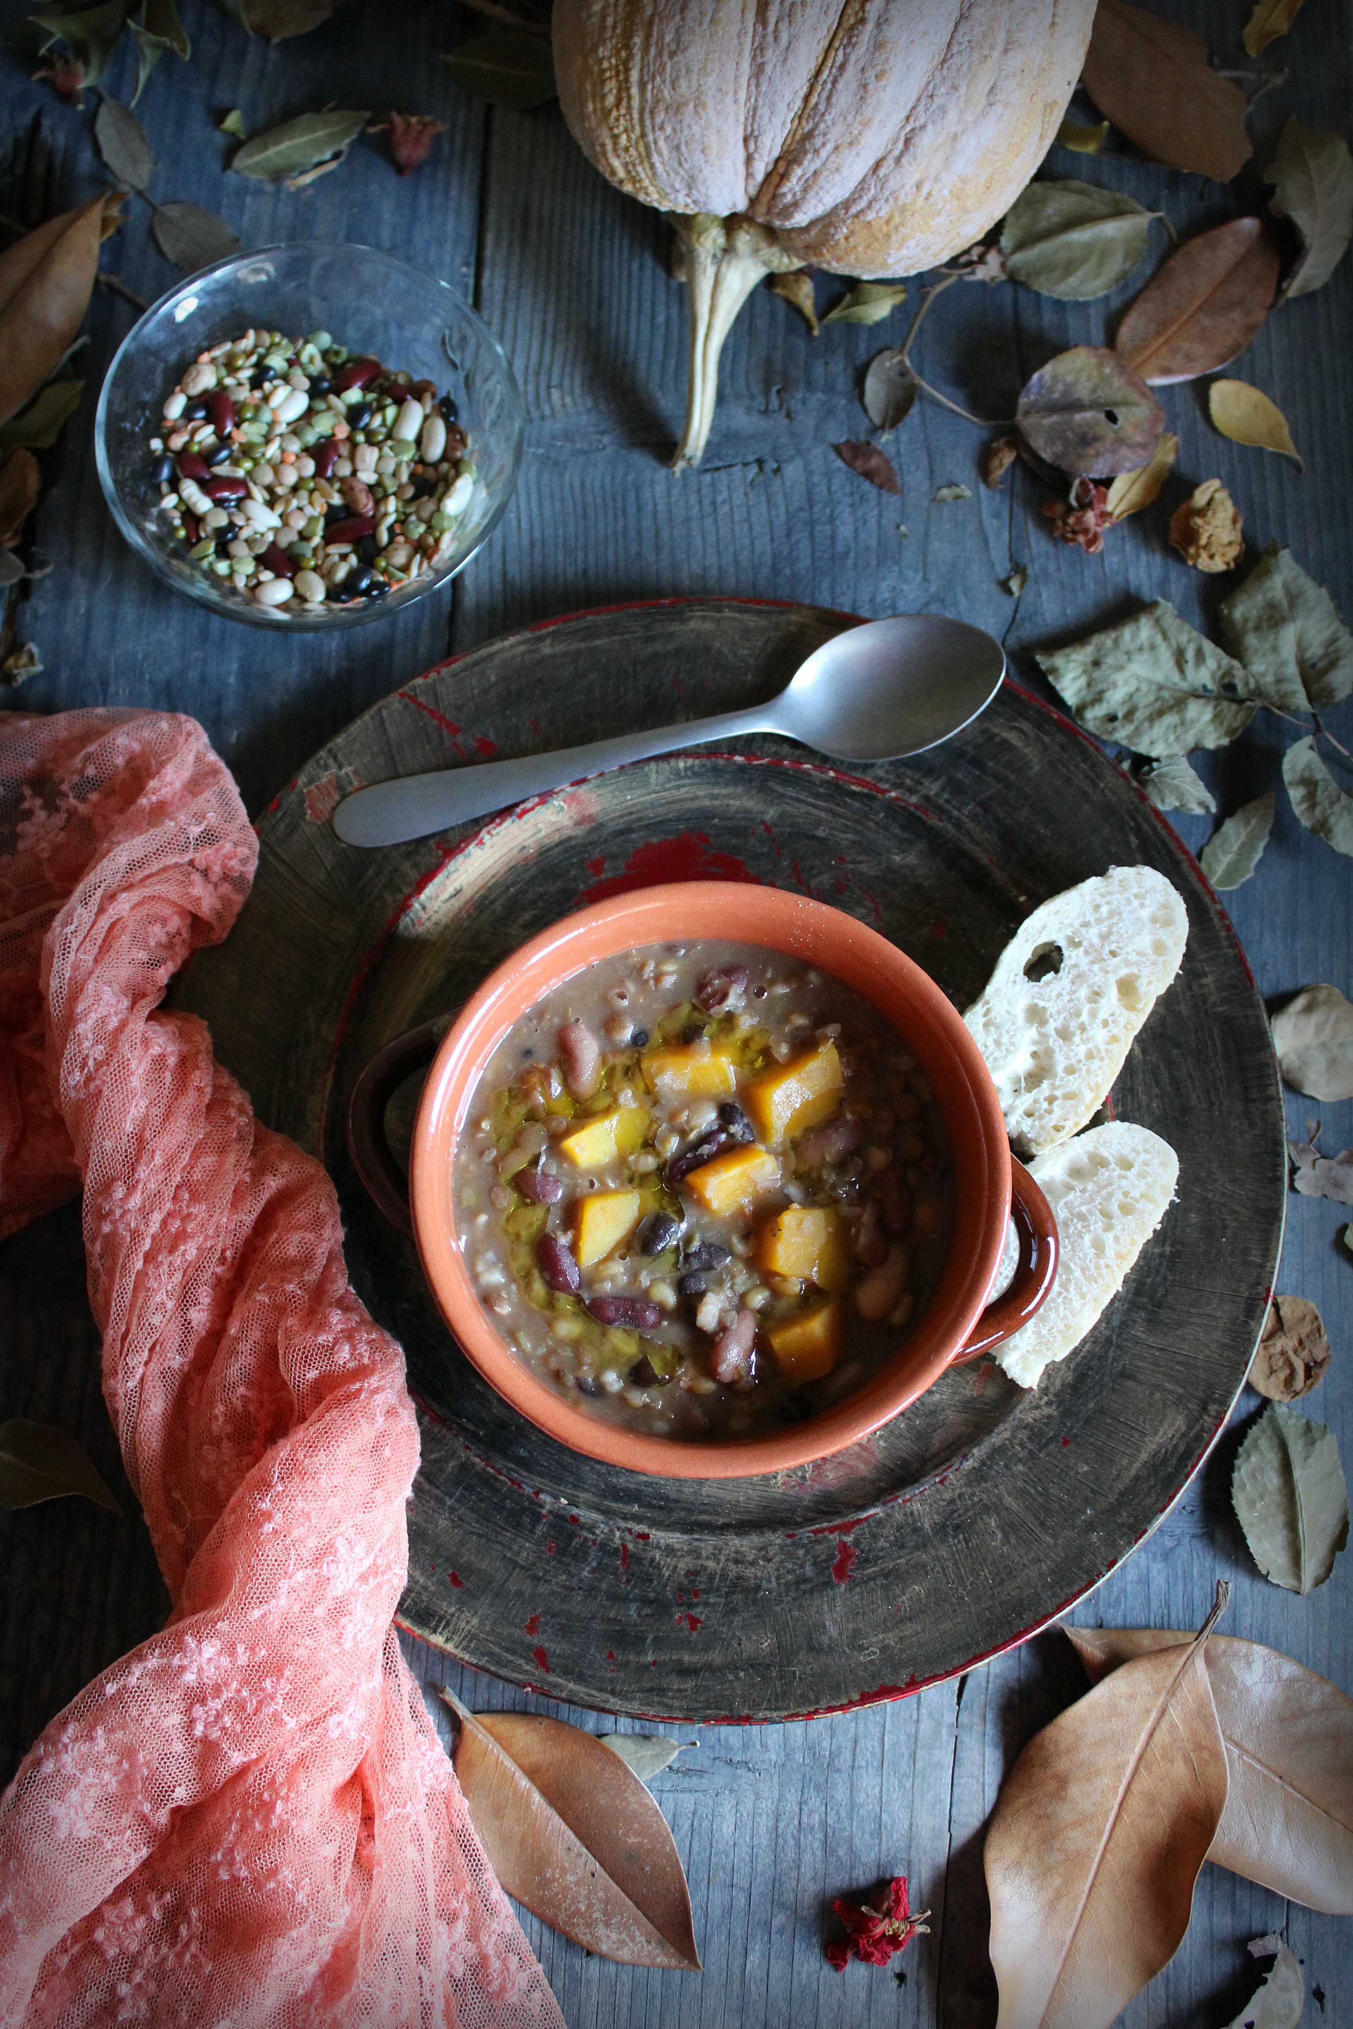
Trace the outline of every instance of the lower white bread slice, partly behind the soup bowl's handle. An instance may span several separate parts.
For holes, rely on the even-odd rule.
[[[1179,1157],[1150,1128],[1110,1120],[1035,1157],[1028,1173],[1057,1219],[1057,1280],[1043,1309],[996,1347],[1020,1388],[1037,1388],[1114,1301],[1174,1197]]]

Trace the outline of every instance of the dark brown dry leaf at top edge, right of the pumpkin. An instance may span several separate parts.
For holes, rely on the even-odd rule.
[[[1156,162],[1229,183],[1250,158],[1245,93],[1213,71],[1201,34],[1162,14],[1099,0],[1081,75],[1099,112]]]

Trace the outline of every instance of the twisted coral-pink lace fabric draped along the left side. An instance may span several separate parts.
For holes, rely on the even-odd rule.
[[[0,714],[0,1234],[83,1179],[174,1603],[0,1800],[0,2021],[562,2029],[391,1631],[400,1347],[323,1169],[160,1010],[256,852],[193,720]]]

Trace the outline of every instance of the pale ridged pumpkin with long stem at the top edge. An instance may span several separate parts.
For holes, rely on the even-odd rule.
[[[1024,189],[1081,71],[1095,0],[554,0],[584,154],[684,239],[692,353],[675,467],[763,274],[919,274]]]

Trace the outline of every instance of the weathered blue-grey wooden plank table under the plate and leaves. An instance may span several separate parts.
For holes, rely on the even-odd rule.
[[[1209,37],[1219,61],[1239,59],[1239,0],[1170,0],[1166,12]],[[24,6],[0,12],[8,28]],[[1016,475],[1000,493],[976,479],[980,434],[921,402],[897,438],[905,499],[850,475],[828,448],[864,434],[856,377],[893,327],[834,327],[815,343],[767,290],[753,296],[724,355],[724,392],[704,467],[675,481],[665,459],[680,424],[686,304],[667,278],[665,227],[619,197],[582,160],[558,108],[489,112],[465,95],[438,53],[481,26],[452,6],[347,8],[337,22],[270,49],[205,0],[185,0],[195,53],[166,57],[140,114],[160,170],[154,195],[219,209],[245,246],[276,239],[365,239],[444,276],[473,296],[521,379],[529,426],[517,495],[485,554],[450,597],[353,635],[280,639],[191,611],[124,548],[93,473],[99,375],[134,310],[97,290],[83,353],[87,392],[61,454],[61,479],[41,507],[39,542],[51,576],[14,609],[18,637],[37,643],[43,674],[6,706],[164,706],[197,714],[258,810],[337,726],[396,684],[521,621],[586,605],[665,592],[807,599],[856,613],[947,611],[1000,635],[1020,676],[1039,682],[1028,651],[1168,597],[1207,625],[1215,580],[1166,548],[1160,513],[1114,532],[1087,558],[1049,540],[1041,493]],[[1264,67],[1290,77],[1254,108],[1256,160],[1296,112],[1308,126],[1347,118],[1353,49],[1349,0],[1306,0],[1292,34]],[[130,97],[132,53],[108,83]],[[105,179],[91,146],[91,110],[28,83],[30,61],[0,55],[4,116],[0,211],[32,199],[32,164],[51,148],[49,211]],[[217,134],[239,106],[250,130],[329,101],[424,112],[446,120],[428,166],[400,181],[377,138],[312,187],[288,193],[223,172],[231,144]],[[41,144],[34,154],[34,126]],[[0,162],[4,156],[0,156]],[[28,166],[26,166],[28,164]],[[41,166],[41,164],[39,164]],[[1215,221],[1233,197],[1195,177],[1140,162],[1053,152],[1049,172],[1130,189],[1168,211],[1181,231]],[[1258,168],[1252,197],[1264,197]],[[174,272],[148,239],[136,199],[103,252],[110,274],[152,300]],[[1120,292],[1126,300],[1136,284]],[[826,296],[820,284],[820,298]],[[1010,414],[1018,386],[1049,353],[1097,343],[1120,300],[1061,304],[1014,286],[959,288],[937,304],[921,369],[962,402]],[[903,312],[907,314],[907,312]],[[1333,284],[1276,314],[1241,371],[1286,410],[1304,477],[1292,465],[1219,438],[1199,390],[1164,392],[1179,432],[1179,475],[1219,475],[1245,515],[1256,550],[1280,538],[1353,615],[1349,505],[1349,327],[1353,264]],[[901,319],[899,319],[901,325]],[[899,333],[901,335],[901,333]],[[959,481],[972,497],[935,503]],[[1177,487],[1177,497],[1183,487]],[[1028,568],[1014,603],[1002,578]],[[1223,586],[1227,580],[1221,580]],[[1333,716],[1349,741],[1353,712]],[[1221,810],[1274,787],[1294,737],[1262,714],[1219,759],[1205,761]],[[1026,793],[1039,795],[1030,781]],[[1195,850],[1209,820],[1181,818]],[[1314,980],[1353,988],[1353,885],[1347,860],[1304,834],[1286,797],[1256,879],[1227,905],[1266,996]],[[1312,1102],[1288,1098],[1292,1128]],[[1353,1106],[1323,1106],[1325,1146],[1353,1142]],[[1225,1191],[1227,1179],[1217,1177]],[[1316,1301],[1335,1345],[1319,1394],[1302,1404],[1329,1422],[1353,1463],[1353,1260],[1339,1246],[1347,1209],[1290,1197],[1280,1288]],[[0,1248],[0,1416],[34,1416],[75,1430],[128,1497],[99,1398],[97,1341],[83,1299],[73,1209]],[[1148,1542],[1073,1619],[1193,1627],[1217,1577],[1233,1585],[1227,1631],[1266,1641],[1353,1688],[1345,1556],[1306,1599],[1256,1570],[1229,1508],[1229,1473],[1258,1408],[1245,1394],[1193,1485]],[[164,1593],[128,1499],[122,1520],[81,1501],[0,1516],[0,1777],[45,1721],[114,1656],[156,1627]],[[448,1682],[471,1706],[558,1710],[501,1682],[473,1678],[440,1652],[410,1643],[428,1688]],[[994,2021],[986,1958],[982,1828],[1020,1745],[1083,1690],[1079,1664],[1045,1633],[957,1682],[921,1696],[807,1725],[740,1731],[669,1729],[694,1739],[655,1781],[686,1861],[704,1978],[633,1972],[527,1930],[570,2025],[913,2025],[980,2029]],[[566,1717],[600,1727],[584,1712]],[[834,1895],[905,1871],[931,1934],[895,1974],[822,1958]],[[1189,1938],[1172,1966],[1128,2009],[1132,2029],[1221,2025],[1252,1992],[1248,1938],[1280,1930],[1304,1964],[1304,2021],[1353,2023],[1353,1948],[1339,1919],[1284,1905],[1264,1889],[1205,1867]]]

